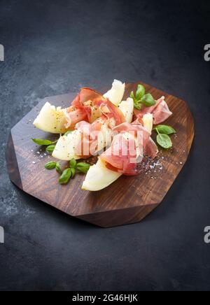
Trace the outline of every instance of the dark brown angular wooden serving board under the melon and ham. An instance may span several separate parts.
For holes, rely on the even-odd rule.
[[[139,83],[142,82],[126,85],[124,99],[127,99],[132,90],[137,90]],[[45,101],[50,101],[50,104],[55,106],[69,106],[76,95],[70,93],[43,99],[11,129],[6,151],[10,180],[28,194],[60,211],[100,227],[142,220],[161,203],[174,183],[186,163],[194,138],[194,120],[186,102],[144,85],[146,92],[151,92],[155,99],[165,95],[173,112],[165,124],[172,125],[177,131],[177,134],[172,136],[173,148],[160,150],[147,173],[140,176],[121,176],[115,183],[99,192],[81,190],[85,176],[80,174],[68,185],[59,185],[58,173],[44,168],[49,158],[53,158],[44,155],[44,150],[40,152],[40,147],[31,141],[31,138],[55,139],[56,135],[38,130],[32,123]]]

